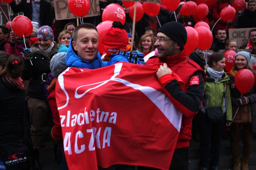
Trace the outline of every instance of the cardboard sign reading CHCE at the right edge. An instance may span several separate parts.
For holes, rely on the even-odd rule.
[[[249,31],[254,28],[228,29],[229,38],[236,39],[237,49],[249,41]]]

